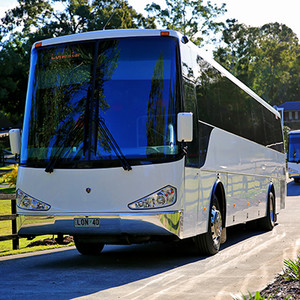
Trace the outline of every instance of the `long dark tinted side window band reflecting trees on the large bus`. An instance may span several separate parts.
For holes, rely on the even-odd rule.
[[[199,119],[283,152],[280,119],[201,57],[197,62]]]

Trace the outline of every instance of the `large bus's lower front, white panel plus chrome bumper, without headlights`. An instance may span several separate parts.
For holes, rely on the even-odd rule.
[[[174,205],[147,210],[128,208],[128,204],[167,185],[177,189],[177,201]],[[44,169],[21,166],[17,188],[51,205],[50,210],[45,212],[18,208],[17,213],[23,223],[19,231],[20,235],[40,235],[50,232],[118,235],[125,231],[130,234],[171,233],[181,238],[185,236],[182,228],[184,159],[164,164],[133,166],[131,171],[124,171],[121,167],[86,170],[55,169],[49,174]],[[173,215],[171,221],[170,215]],[[30,221],[36,222],[43,216],[49,219],[48,224],[47,222],[30,224]],[[76,231],[73,226],[74,217],[86,216],[106,219],[104,223],[103,220],[100,221],[105,226],[100,226],[100,232],[89,228]],[[174,229],[172,224],[168,226],[167,223],[172,223],[174,218],[178,223],[174,226],[180,228]],[[162,230],[158,228],[159,226]]]

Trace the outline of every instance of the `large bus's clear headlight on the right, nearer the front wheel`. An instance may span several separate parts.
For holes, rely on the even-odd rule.
[[[157,192],[132,202],[128,205],[131,209],[151,209],[173,205],[176,202],[176,188],[168,185]]]

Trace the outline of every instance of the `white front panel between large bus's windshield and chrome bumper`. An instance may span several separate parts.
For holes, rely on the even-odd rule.
[[[178,193],[172,209],[182,209],[183,163],[181,160],[134,166],[132,171],[124,171],[121,167],[55,169],[51,174],[44,169],[20,167],[17,188],[50,204],[47,214],[89,214],[136,212],[129,209],[128,204],[172,185]]]

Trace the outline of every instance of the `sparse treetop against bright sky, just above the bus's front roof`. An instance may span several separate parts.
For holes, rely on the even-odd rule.
[[[217,33],[224,25],[216,21],[216,18],[226,11],[224,3],[218,7],[210,1],[204,5],[203,0],[165,1],[165,9],[156,3],[148,4],[145,8],[148,17],[155,18],[163,28],[180,31],[198,45],[203,44],[205,38],[211,33]],[[210,38],[211,41],[216,40],[215,37]]]

